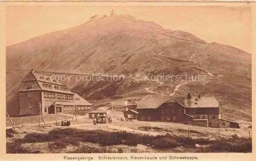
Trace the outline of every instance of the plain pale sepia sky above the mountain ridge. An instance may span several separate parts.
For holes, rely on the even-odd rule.
[[[6,45],[72,28],[98,14],[129,14],[164,29],[182,30],[207,42],[252,51],[251,7],[245,6],[6,6]]]

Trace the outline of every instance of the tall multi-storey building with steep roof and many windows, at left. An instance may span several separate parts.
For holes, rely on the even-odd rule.
[[[92,104],[70,91],[64,84],[32,70],[18,89],[19,116],[90,110]],[[40,109],[40,110],[39,110]]]

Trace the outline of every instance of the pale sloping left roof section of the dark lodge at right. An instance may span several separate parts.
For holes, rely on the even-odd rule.
[[[154,109],[170,99],[169,96],[147,95],[137,104],[137,109]]]

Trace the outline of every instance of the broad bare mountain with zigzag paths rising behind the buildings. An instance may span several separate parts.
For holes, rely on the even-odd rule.
[[[95,18],[86,23],[37,36],[6,48],[7,108],[16,106],[16,90],[28,71],[108,74],[138,78],[156,75],[207,75],[206,81],[181,86],[179,94],[216,95],[227,105],[251,117],[251,55],[219,43],[208,43],[184,31],[163,29],[130,15]],[[125,81],[66,82],[89,100],[144,96],[146,87],[160,91],[179,82],[125,79]]]

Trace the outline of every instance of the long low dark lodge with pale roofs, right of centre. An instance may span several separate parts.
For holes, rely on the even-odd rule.
[[[124,117],[128,118],[130,106],[124,107]],[[135,109],[136,108],[136,109]],[[164,121],[189,123],[193,125],[220,128],[239,128],[239,123],[221,118],[221,102],[213,96],[172,98],[148,95],[137,106],[133,105],[139,121]],[[129,113],[133,114],[132,112]]]

